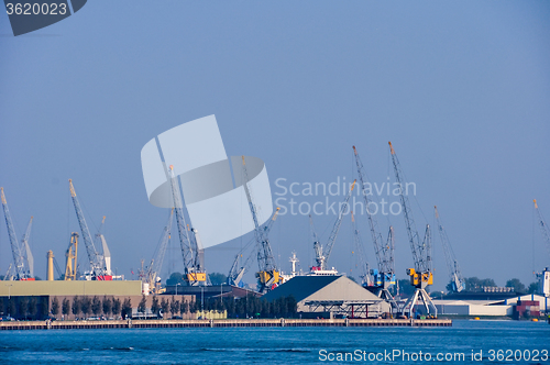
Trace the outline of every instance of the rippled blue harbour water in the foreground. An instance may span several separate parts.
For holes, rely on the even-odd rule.
[[[407,352],[409,356],[420,351],[430,353],[432,362],[438,353],[464,353],[464,361],[457,358],[447,364],[549,364],[550,361],[542,361],[543,353],[535,362],[516,361],[514,356],[508,357],[512,361],[498,361],[496,351],[519,350],[521,356],[532,356],[536,350],[549,352],[550,325],[546,322],[462,320],[454,321],[452,328],[207,328],[0,333],[0,364],[329,363],[319,360],[320,350],[327,351],[327,360],[329,353],[337,358],[338,353],[359,350],[363,354],[365,351],[362,355],[365,363],[378,364],[414,363],[403,357],[369,361],[369,354],[374,356],[394,350]],[[490,350],[495,350],[494,356]],[[472,351],[483,351],[483,360],[472,361]],[[516,356],[518,354],[516,352]]]

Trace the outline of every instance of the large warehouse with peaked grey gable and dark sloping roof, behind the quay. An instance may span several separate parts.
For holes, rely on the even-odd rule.
[[[389,312],[389,305],[345,276],[295,276],[267,292],[268,301],[293,296],[302,318],[369,318]]]

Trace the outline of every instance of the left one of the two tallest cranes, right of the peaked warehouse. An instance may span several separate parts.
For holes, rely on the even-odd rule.
[[[365,202],[366,218],[369,221],[369,226],[371,229],[371,237],[374,244],[374,253],[376,254],[377,268],[371,270],[374,279],[374,286],[376,287],[375,294],[389,302],[389,305],[392,306],[392,311],[398,312],[399,306],[397,305],[397,301],[395,301],[394,296],[392,296],[388,290],[392,285],[395,285],[394,229],[393,226],[389,226],[387,240],[384,243],[376,215],[373,214],[369,208],[372,202],[370,201],[369,193],[365,189],[365,186],[366,184],[369,184],[369,181],[366,180],[365,174],[363,172],[363,163],[361,162],[361,157],[359,156],[359,152],[355,146],[353,146],[353,154],[355,156],[355,166],[358,168],[358,175],[361,181],[362,196]]]

